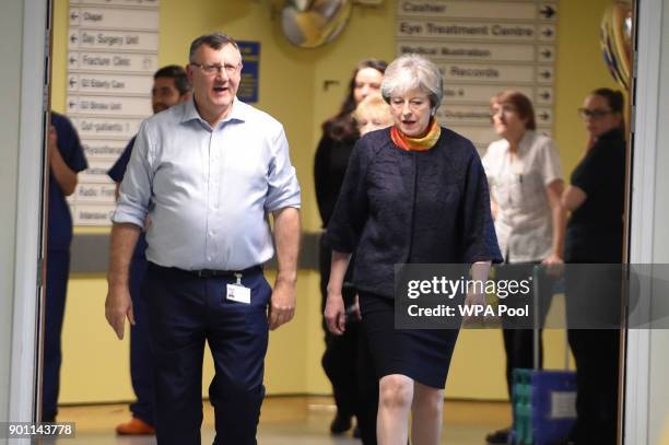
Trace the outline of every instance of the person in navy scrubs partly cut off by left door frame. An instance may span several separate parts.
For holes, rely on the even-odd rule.
[[[66,196],[74,192],[77,174],[89,167],[79,136],[70,120],[51,112],[47,145],[49,164],[49,213],[47,232],[47,278],[44,325],[42,420],[52,422],[58,413],[60,386],[60,335],[64,314],[72,215]]]

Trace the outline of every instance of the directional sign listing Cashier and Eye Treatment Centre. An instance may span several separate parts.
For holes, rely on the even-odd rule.
[[[427,57],[442,72],[441,124],[484,150],[497,139],[491,97],[515,90],[552,132],[559,0],[397,0],[396,14],[397,54]]]

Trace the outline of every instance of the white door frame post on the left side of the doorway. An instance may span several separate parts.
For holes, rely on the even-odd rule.
[[[13,0],[14,1],[14,0]],[[21,36],[21,89],[19,130],[19,181],[21,199],[16,202],[16,243],[14,268],[13,320],[9,419],[12,422],[36,420],[37,314],[42,261],[42,218],[44,189],[44,117],[48,105],[50,34],[47,30],[50,0],[23,0]],[[46,214],[44,216],[46,219]],[[10,442],[10,443],[13,443]],[[19,443],[19,442],[16,442]]]

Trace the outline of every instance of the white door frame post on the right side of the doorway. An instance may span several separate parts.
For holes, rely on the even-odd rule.
[[[654,262],[662,0],[637,0],[637,13],[630,264],[650,265]],[[644,445],[648,444],[650,331],[631,329],[626,343],[624,443]]]

